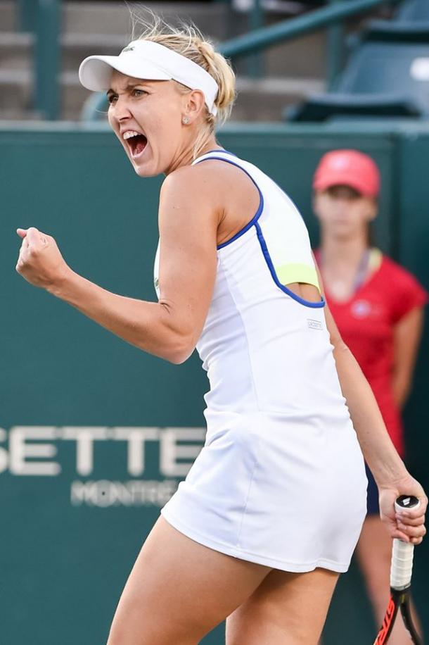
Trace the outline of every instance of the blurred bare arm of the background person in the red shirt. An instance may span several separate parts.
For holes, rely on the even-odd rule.
[[[411,389],[417,350],[423,330],[423,308],[416,307],[399,320],[393,332],[393,398],[404,406]]]

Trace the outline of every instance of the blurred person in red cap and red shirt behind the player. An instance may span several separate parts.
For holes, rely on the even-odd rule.
[[[377,214],[380,173],[357,150],[325,154],[314,174],[314,211],[321,224],[316,259],[326,301],[344,342],[368,379],[399,455],[404,455],[400,409],[411,388],[421,337],[425,289],[408,271],[369,242]],[[380,520],[378,489],[371,472],[357,556],[377,623],[388,601],[392,541]],[[402,620],[389,644],[406,645]]]

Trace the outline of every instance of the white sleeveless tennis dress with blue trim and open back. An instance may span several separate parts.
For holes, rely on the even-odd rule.
[[[217,250],[197,344],[208,372],[207,437],[162,508],[216,551],[286,571],[346,571],[366,514],[364,461],[342,396],[307,229],[286,194],[227,151],[260,192],[254,218]],[[158,291],[159,248],[155,259]],[[158,292],[159,294],[159,292]]]

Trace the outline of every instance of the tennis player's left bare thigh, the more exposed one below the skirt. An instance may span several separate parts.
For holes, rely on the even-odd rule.
[[[160,518],[129,575],[107,645],[196,645],[269,571],[207,549]]]

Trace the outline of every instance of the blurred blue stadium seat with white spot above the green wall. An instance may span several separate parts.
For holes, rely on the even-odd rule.
[[[294,121],[335,115],[429,118],[429,23],[374,21],[334,92],[311,96],[285,113]]]

